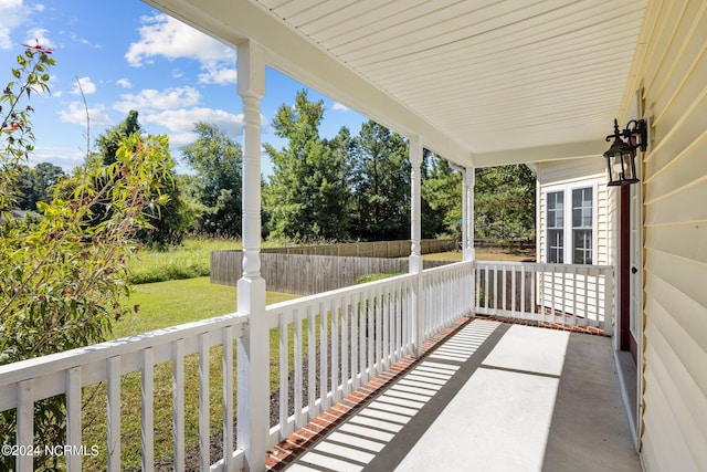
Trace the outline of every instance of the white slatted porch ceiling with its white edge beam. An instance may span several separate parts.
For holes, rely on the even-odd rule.
[[[145,0],[460,165],[600,155],[636,0]]]

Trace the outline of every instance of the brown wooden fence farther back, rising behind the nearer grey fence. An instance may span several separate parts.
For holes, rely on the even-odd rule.
[[[338,255],[350,258],[405,258],[410,255],[410,240],[351,242],[341,244],[294,245],[291,248],[263,248],[261,253]],[[454,251],[457,240],[425,239],[421,241],[421,253]]]

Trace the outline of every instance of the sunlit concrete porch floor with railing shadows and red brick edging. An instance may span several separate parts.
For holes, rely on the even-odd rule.
[[[271,470],[641,470],[609,338],[476,318],[399,370],[273,448]]]

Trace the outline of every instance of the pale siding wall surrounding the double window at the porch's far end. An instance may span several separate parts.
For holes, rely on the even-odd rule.
[[[611,225],[609,219],[610,190],[606,187],[606,174],[604,160],[601,157],[569,159],[555,162],[541,162],[538,166],[538,262],[548,262],[547,251],[547,193],[564,190],[564,198],[569,198],[569,191],[573,188],[591,187],[593,190],[594,225],[592,248],[593,264],[610,265],[612,263]],[[567,200],[566,200],[567,201]],[[566,214],[570,221],[571,214]],[[569,243],[569,241],[566,241]],[[570,262],[566,259],[566,262]],[[538,277],[539,303],[556,312],[572,313],[584,316],[582,310],[585,305],[597,305],[593,313],[599,313],[599,319],[604,317],[603,289],[598,298],[587,298],[578,287],[585,283],[595,283],[595,277],[573,276],[571,270],[563,275],[563,284],[558,284],[557,276]],[[600,284],[601,285],[601,284]]]

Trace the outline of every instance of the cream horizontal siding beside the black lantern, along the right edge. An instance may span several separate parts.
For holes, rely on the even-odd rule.
[[[707,470],[707,2],[650,1],[626,97],[643,90],[647,471]],[[608,124],[609,127],[609,124]]]

